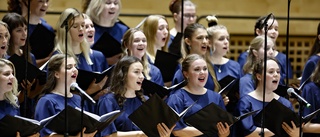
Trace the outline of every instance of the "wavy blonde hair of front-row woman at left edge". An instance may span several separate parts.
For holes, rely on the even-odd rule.
[[[13,75],[14,75],[14,80],[13,80],[13,83],[12,83],[12,90],[9,91],[9,92],[4,93],[4,98],[12,106],[14,106],[16,108],[19,108],[18,97],[17,97],[19,95],[19,92],[18,92],[18,82],[17,82],[17,79],[15,77],[15,73],[16,73],[15,67],[14,67],[14,65],[12,64],[11,61],[9,61],[7,59],[0,58],[0,73],[3,72],[3,67],[4,66],[9,66],[12,69],[12,72],[13,72]]]

